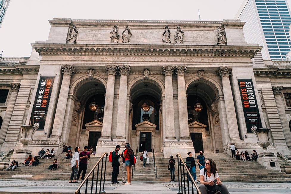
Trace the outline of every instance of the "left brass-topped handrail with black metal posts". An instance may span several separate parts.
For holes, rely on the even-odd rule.
[[[106,156],[105,156],[106,155]],[[97,177],[96,177],[96,191],[95,193],[97,193],[97,185],[98,185],[98,175],[99,175],[99,164],[100,161],[102,160],[102,164],[101,164],[101,176],[100,176],[100,188],[99,188],[99,193],[106,193],[104,191],[104,184],[105,184],[105,173],[106,173],[106,161],[107,161],[107,152],[104,152],[104,154],[102,154],[102,156],[100,157],[100,159],[98,160],[98,162],[94,165],[94,167],[90,170],[90,172],[88,173],[88,175],[85,177],[84,181],[82,181],[82,183],[80,184],[80,186],[77,188],[77,190],[75,191],[75,194],[80,194],[81,193],[81,188],[82,186],[85,184],[86,182],[86,188],[85,188],[85,193],[87,193],[87,187],[88,187],[88,180],[90,175],[92,174],[92,183],[91,183],[91,193],[93,190],[93,183],[94,183],[94,172],[95,172],[95,168],[98,166],[97,168]],[[105,166],[104,166],[104,178],[103,178],[103,190],[101,191],[101,184],[102,184],[102,172],[103,172],[103,161],[104,161],[104,156],[105,156]]]

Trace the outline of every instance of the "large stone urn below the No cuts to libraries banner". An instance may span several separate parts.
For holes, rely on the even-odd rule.
[[[252,126],[251,130],[257,137],[258,145],[263,148],[263,152],[267,152],[267,147],[270,145],[269,131],[270,128],[257,129],[256,126]]]

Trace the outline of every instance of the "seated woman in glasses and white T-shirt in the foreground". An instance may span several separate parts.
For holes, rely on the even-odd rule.
[[[206,160],[205,168],[201,169],[199,174],[199,190],[202,194],[207,194],[207,191],[220,191],[222,194],[229,194],[227,187],[220,181],[217,171],[214,160]]]

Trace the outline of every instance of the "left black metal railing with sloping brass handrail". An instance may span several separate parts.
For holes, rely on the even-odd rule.
[[[104,154],[102,154],[102,156],[100,157],[100,159],[98,160],[98,162],[94,165],[94,167],[92,168],[92,170],[85,177],[84,181],[77,188],[77,190],[75,191],[75,194],[80,194],[81,193],[81,188],[84,186],[85,183],[86,183],[86,185],[85,185],[85,194],[87,194],[87,192],[89,192],[90,194],[93,193],[93,188],[94,188],[93,186],[94,186],[94,184],[95,184],[95,194],[97,194],[98,182],[99,181],[100,181],[99,194],[100,193],[106,193],[104,191],[104,184],[105,184],[107,155],[108,155],[107,152],[104,152]],[[105,157],[105,162],[104,162],[104,157]],[[101,163],[101,173],[100,173],[100,179],[99,179],[99,168],[100,168],[100,162],[101,161],[102,161],[102,163]],[[103,167],[104,167],[104,172],[103,172]],[[96,177],[95,177],[94,174],[95,174],[95,169],[96,168],[97,168],[97,173],[96,173]],[[103,176],[103,179],[102,179],[102,176]],[[92,179],[91,180],[91,183],[89,183],[89,178]],[[103,189],[101,191],[102,180],[103,180]],[[88,187],[89,187],[89,191],[88,191]],[[84,192],[82,192],[82,193],[84,193]]]

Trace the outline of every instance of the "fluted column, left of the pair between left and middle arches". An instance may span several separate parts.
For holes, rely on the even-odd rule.
[[[117,72],[116,66],[105,66],[108,72],[105,105],[104,105],[104,120],[101,138],[111,140],[111,126],[112,126],[112,114],[113,114],[113,101],[114,101],[114,83],[115,75]]]

